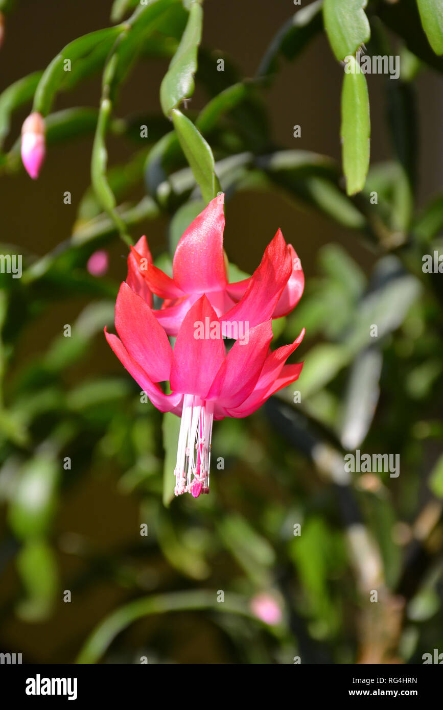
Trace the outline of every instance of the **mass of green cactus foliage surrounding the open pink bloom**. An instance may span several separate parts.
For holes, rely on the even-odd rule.
[[[80,662],[138,662],[139,646],[121,632],[146,616],[183,611],[205,620],[197,624],[204,638],[217,628],[226,662],[420,662],[422,652],[443,645],[443,290],[439,273],[422,271],[422,255],[442,249],[443,194],[417,209],[412,87],[417,72],[442,71],[435,55],[443,52],[441,9],[428,0],[314,2],[270,41],[253,78],[239,76],[226,56],[217,70],[214,54],[200,45],[203,15],[197,0],[115,0],[111,21],[118,24],[73,40],[44,72],[0,97],[2,141],[11,116],[32,99],[45,116],[49,151],[79,135],[94,141],[92,184],[84,186],[72,234],[41,258],[25,255],[22,278],[0,274],[1,550],[21,585],[0,611],[43,623],[60,613],[65,589],[82,594],[107,579],[120,592],[115,610],[88,639],[78,638],[71,661],[80,654]],[[390,160],[368,168],[363,74],[344,75],[342,167],[273,143],[266,92],[283,61],[297,60],[323,31],[332,62],[362,43],[368,54],[395,54],[388,29],[407,67],[385,82]],[[119,89],[134,62],[150,58],[170,60],[163,115],[126,116]],[[97,109],[51,112],[59,92],[94,72],[103,73]],[[186,105],[195,84],[207,97],[197,115]],[[148,138],[141,138],[144,124]],[[109,136],[131,148],[126,163],[107,165]],[[21,170],[19,151],[17,140],[2,152],[0,170]],[[143,197],[128,202],[141,186]],[[87,273],[86,263],[119,236],[138,239],[139,224],[163,215],[168,244],[156,263],[165,268],[205,202],[219,190],[229,202],[246,189],[278,192],[353,230],[376,263],[367,276],[339,245],[318,253],[318,278],[295,312],[274,324],[273,346],[306,328],[300,398],[283,390],[247,420],[218,422],[213,460],[224,457],[225,466],[213,472],[211,496],[171,503],[177,417],[141,403],[124,371],[75,375],[112,323],[118,288]],[[3,254],[21,251],[12,241],[5,236]],[[231,273],[243,278],[235,265]],[[70,337],[61,334],[43,356],[31,353],[16,366],[23,333],[67,297],[87,303]],[[360,448],[399,454],[399,478],[346,474],[344,454]],[[136,499],[134,525],[147,525],[148,535],[135,547],[103,555],[63,534],[60,502],[92,466],[117,467],[119,493]],[[82,561],[82,572],[65,575],[66,552]],[[155,594],[143,596],[147,590]],[[373,590],[378,603],[370,601]],[[251,600],[263,593],[282,610],[275,626],[252,611]],[[173,635],[173,626],[151,626],[141,647],[158,662],[173,661]]]

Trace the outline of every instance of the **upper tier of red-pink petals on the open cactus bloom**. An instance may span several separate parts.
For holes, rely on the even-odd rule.
[[[300,259],[292,245],[286,244],[280,229],[253,275],[228,283],[223,203],[224,195],[214,197],[188,226],[177,244],[173,278],[154,266],[151,254],[146,258],[146,250],[149,251],[146,238],[142,238],[144,254],[139,249],[141,241],[131,251],[131,279],[136,278],[136,265],[148,292],[163,298],[162,307],[154,315],[168,335],[177,335],[187,311],[203,293],[217,316],[223,316],[227,322],[240,318],[250,327],[287,315],[303,293],[305,279]]]

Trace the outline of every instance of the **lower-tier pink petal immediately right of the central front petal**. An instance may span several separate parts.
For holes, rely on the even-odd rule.
[[[217,404],[237,407],[253,391],[268,354],[273,331],[270,320],[252,328],[248,343],[236,340],[212,383],[207,399],[216,398]]]

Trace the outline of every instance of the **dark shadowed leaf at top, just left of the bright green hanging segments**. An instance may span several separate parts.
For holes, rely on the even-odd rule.
[[[260,66],[257,77],[272,74],[277,70],[277,58],[282,54],[286,59],[295,59],[322,30],[322,0],[316,0],[301,8],[285,22],[271,41]]]

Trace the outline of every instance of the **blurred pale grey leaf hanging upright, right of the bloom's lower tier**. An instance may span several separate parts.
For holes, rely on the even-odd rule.
[[[364,350],[354,360],[340,426],[341,444],[345,449],[359,447],[368,433],[380,395],[382,363],[381,352],[374,348]]]

